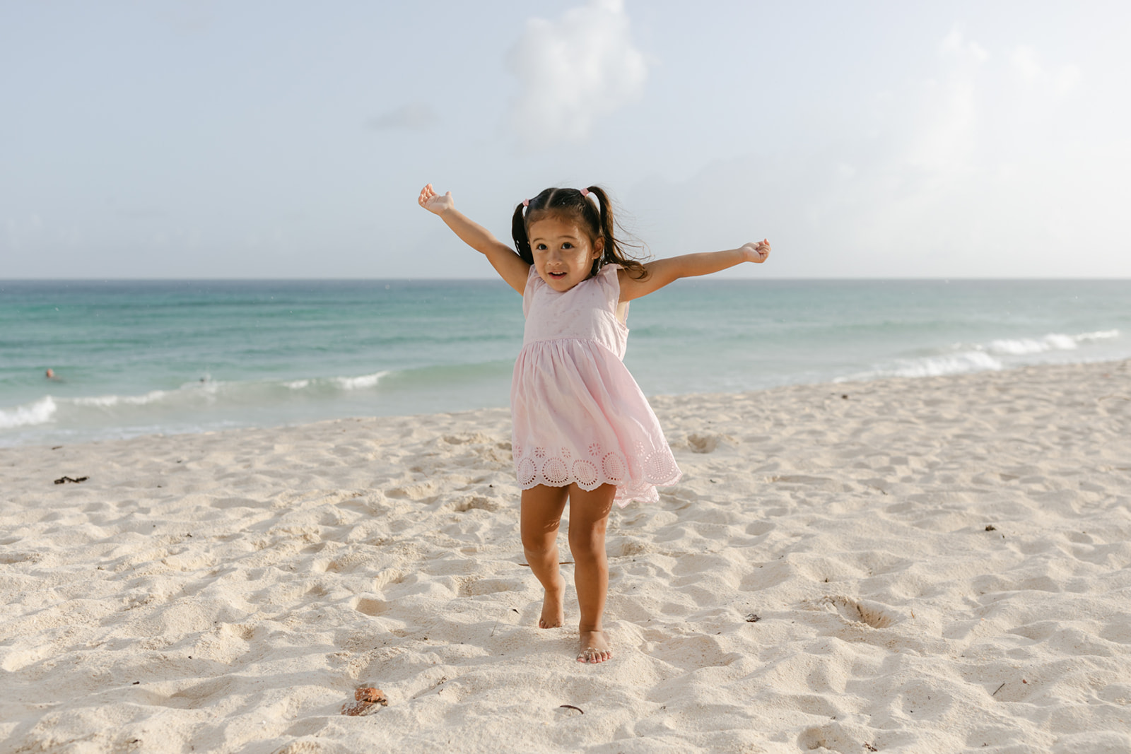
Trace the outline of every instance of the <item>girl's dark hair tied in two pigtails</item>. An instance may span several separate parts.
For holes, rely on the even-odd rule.
[[[586,191],[597,198],[596,203],[582,194],[579,189],[546,189],[528,202],[515,207],[510,233],[515,237],[515,249],[518,251],[518,255],[528,265],[534,263],[534,251],[530,249],[528,234],[529,224],[545,217],[556,216],[576,222],[581,231],[589,234],[590,242],[595,243],[597,239],[605,240],[604,253],[593,260],[593,270],[589,275],[596,275],[597,270],[605,265],[616,263],[638,280],[648,277],[648,270],[645,269],[645,266],[624,252],[625,246],[640,249],[640,244],[619,241],[614,234],[615,229],[622,236],[627,235],[620,224],[613,219],[613,206],[608,194],[598,185],[590,185]]]

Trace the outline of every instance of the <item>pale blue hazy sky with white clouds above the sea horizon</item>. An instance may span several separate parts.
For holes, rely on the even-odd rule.
[[[0,0],[0,279],[487,278],[601,184],[769,278],[1128,278],[1131,3]]]

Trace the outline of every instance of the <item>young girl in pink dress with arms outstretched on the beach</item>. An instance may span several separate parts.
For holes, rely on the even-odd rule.
[[[681,277],[765,262],[769,242],[644,265],[615,240],[608,197],[595,185],[546,189],[515,207],[515,249],[456,211],[450,191],[440,196],[430,183],[418,201],[523,294],[526,329],[511,382],[511,447],[523,488],[523,549],[545,588],[538,627],[564,621],[558,526],[569,500],[581,613],[577,659],[604,662],[612,657],[602,632],[608,512],[614,502],[658,501],[656,485],[680,479],[656,415],[621,363],[629,302]]]

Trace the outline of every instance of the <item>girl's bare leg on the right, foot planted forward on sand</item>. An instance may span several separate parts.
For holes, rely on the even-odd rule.
[[[608,593],[605,528],[615,494],[616,487],[611,484],[589,492],[576,484],[569,486],[569,547],[573,553],[573,583],[577,586],[578,607],[581,608],[578,662],[604,662],[613,656],[602,621]]]

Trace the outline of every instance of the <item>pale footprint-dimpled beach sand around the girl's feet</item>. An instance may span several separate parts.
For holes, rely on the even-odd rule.
[[[1131,362],[654,405],[602,666],[506,410],[0,450],[0,749],[1131,751]]]

